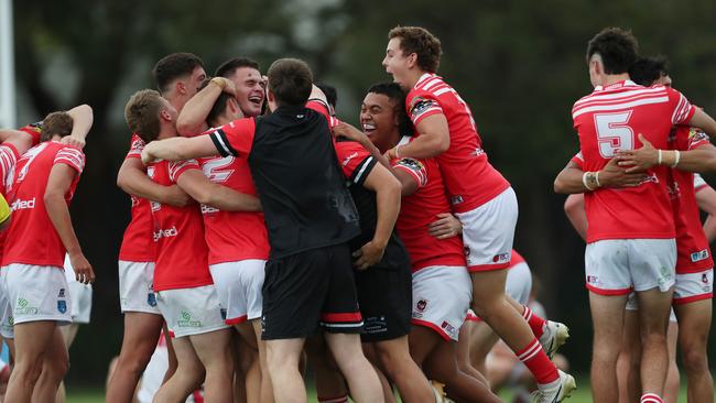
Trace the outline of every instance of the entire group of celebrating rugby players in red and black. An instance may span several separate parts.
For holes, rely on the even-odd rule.
[[[388,39],[393,81],[368,89],[360,128],[336,117],[300,59],[263,76],[231,58],[213,78],[194,54],[156,63],[158,90],[124,108],[124,335],[107,402],[139,397],[162,337],[169,358],[153,402],[197,390],[207,402],[305,402],[306,362],[321,402],[394,402],[393,388],[403,402],[499,402],[486,370],[498,339],[531,374],[535,402],[569,396],[575,380],[553,362],[567,328],[528,307],[531,275],[512,250],[517,196],[488,162],[468,105],[436,75],[440,41],[416,26]],[[618,400],[623,320],[614,318],[632,291],[627,309],[638,303],[644,337],[627,401],[662,402],[672,293],[682,334],[693,334],[682,348],[703,348],[686,367],[690,399],[692,374],[694,401],[713,399],[699,378],[713,261],[694,175],[675,167],[710,168],[716,149],[690,127],[714,134],[716,122],[659,85],[665,67],[630,80],[658,65],[637,59],[630,33],[603,31],[587,57],[596,89],[575,104],[581,152],[555,189],[584,194],[571,196],[584,198],[571,218],[588,242],[595,401]],[[90,127],[80,106],[0,131],[0,218],[12,210],[0,272],[8,402],[54,401],[67,371],[65,251],[77,282],[94,281],[67,208]]]

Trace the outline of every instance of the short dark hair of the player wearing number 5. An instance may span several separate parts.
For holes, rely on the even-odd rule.
[[[587,63],[595,54],[601,56],[604,73],[628,73],[637,61],[639,42],[629,30],[605,28],[587,45]]]

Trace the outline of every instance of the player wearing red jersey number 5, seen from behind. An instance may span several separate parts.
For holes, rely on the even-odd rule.
[[[641,401],[662,402],[668,363],[665,329],[676,263],[668,170],[649,170],[647,179],[619,192],[600,188],[604,184],[599,174],[607,166],[614,167],[611,157],[618,150],[632,150],[644,141],[665,149],[674,124],[716,129],[713,119],[691,106],[679,91],[663,86],[644,88],[631,81],[628,70],[636,58],[637,41],[630,32],[605,29],[589,41],[587,64],[595,91],[578,100],[572,111],[581,154],[555,182],[557,192],[589,190],[585,195],[590,224],[585,260],[595,327],[592,389],[597,402],[618,399],[617,346],[627,294],[632,287],[640,306],[643,340]],[[636,139],[636,133],[646,134]],[[664,162],[675,166],[677,155],[672,151]],[[574,170],[576,166],[586,172]],[[630,208],[637,205],[639,210]]]

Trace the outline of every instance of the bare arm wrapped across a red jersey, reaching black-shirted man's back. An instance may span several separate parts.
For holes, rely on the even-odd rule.
[[[176,183],[203,205],[224,211],[261,211],[261,203],[256,196],[211,183],[198,168],[184,171]]]

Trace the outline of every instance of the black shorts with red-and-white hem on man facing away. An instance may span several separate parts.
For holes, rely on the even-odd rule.
[[[303,338],[318,327],[360,333],[352,261],[347,244],[270,259],[263,281],[261,338]]]

